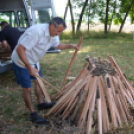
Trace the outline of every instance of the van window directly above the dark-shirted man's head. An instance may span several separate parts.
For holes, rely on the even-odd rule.
[[[17,27],[14,12],[0,12],[0,22],[1,21],[7,21],[10,26]]]

